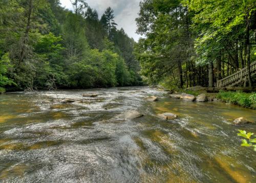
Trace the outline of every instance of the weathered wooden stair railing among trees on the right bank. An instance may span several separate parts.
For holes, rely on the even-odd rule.
[[[250,64],[251,73],[256,72],[256,61]],[[217,83],[217,87],[226,87],[235,82],[246,80],[247,77],[247,67],[242,68],[241,70],[233,73],[222,80],[219,80]]]

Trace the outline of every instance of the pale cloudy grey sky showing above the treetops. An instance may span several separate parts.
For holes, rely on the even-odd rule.
[[[129,37],[138,41],[140,35],[136,34],[136,21],[140,10],[139,3],[141,0],[87,0],[88,5],[96,9],[99,18],[104,13],[106,8],[111,7],[114,10],[115,22],[117,28],[123,28]],[[63,7],[72,10],[70,0],[60,0]]]

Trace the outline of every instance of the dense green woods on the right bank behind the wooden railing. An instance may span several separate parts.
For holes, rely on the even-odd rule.
[[[136,58],[148,83],[214,87],[256,60],[255,0],[144,0]],[[248,67],[248,82],[252,86]]]

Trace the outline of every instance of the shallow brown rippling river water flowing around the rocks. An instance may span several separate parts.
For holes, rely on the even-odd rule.
[[[52,104],[52,98],[99,100]],[[185,102],[148,87],[0,95],[0,182],[256,182],[256,153],[235,126],[256,112]],[[157,95],[157,102],[146,96]],[[134,120],[113,117],[127,110]],[[165,121],[156,114],[172,112]]]

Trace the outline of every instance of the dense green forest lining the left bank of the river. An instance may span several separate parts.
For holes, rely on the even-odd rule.
[[[135,41],[109,7],[99,19],[85,0],[0,1],[1,90],[141,85]]]

